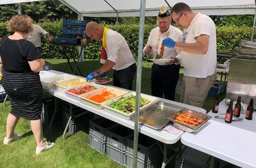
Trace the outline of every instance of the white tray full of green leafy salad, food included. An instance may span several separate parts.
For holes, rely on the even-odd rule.
[[[117,99],[113,99],[106,103],[103,103],[102,106],[106,112],[119,116],[121,118],[125,118],[126,120],[130,120],[130,117],[135,114],[135,96],[136,92],[131,92],[122,97],[118,97]],[[146,95],[141,93],[140,95],[140,110],[151,106],[154,101],[158,100],[158,97],[154,97],[152,95]],[[129,98],[129,99],[128,99]],[[144,101],[143,101],[144,100]],[[132,103],[132,104],[130,104]],[[111,108],[110,105],[115,107]],[[117,108],[119,110],[117,110]],[[129,112],[130,111],[130,112]]]

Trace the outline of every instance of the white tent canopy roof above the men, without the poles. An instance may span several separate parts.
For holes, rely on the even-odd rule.
[[[59,0],[81,16],[86,17],[119,17],[139,16],[139,0]],[[166,0],[172,7],[180,0]],[[164,0],[146,1],[146,16],[155,16]],[[255,13],[255,0],[183,0],[193,11],[207,15],[245,15]],[[112,7],[111,7],[112,6]],[[113,9],[114,8],[114,9]]]

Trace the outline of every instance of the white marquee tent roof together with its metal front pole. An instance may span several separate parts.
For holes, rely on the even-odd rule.
[[[0,5],[11,3],[23,3],[36,0],[0,0]],[[38,0],[40,1],[40,0]],[[139,52],[136,84],[136,113],[135,132],[133,142],[133,158],[137,158],[137,138],[138,138],[138,118],[139,118],[139,98],[141,87],[141,62],[143,48],[143,24],[144,16],[156,16],[162,5],[172,7],[180,1],[187,3],[193,11],[199,11],[207,15],[255,15],[256,0],[59,0],[75,11],[79,19],[87,17],[125,17],[140,16],[139,28]],[[254,28],[255,24],[253,25]],[[164,166],[163,164],[162,166]],[[133,167],[137,166],[137,161],[133,159]]]

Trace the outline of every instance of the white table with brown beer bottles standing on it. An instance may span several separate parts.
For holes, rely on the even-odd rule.
[[[228,124],[224,119],[214,118],[216,115],[224,116],[228,106],[224,100],[220,103],[218,114],[211,112],[212,119],[202,130],[196,133],[185,132],[181,142],[193,149],[212,155],[239,167],[256,167],[256,118],[246,120],[241,114],[242,121],[232,121]],[[245,109],[243,110],[243,113]]]

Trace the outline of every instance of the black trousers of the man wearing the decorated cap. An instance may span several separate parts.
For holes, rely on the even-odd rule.
[[[151,92],[156,97],[174,100],[181,65],[152,65]]]

